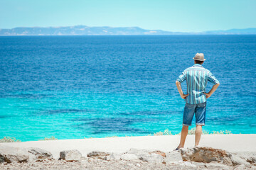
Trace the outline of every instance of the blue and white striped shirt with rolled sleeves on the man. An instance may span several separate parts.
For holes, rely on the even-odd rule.
[[[186,103],[198,104],[206,102],[206,85],[210,81],[213,84],[219,84],[213,74],[203,68],[201,64],[194,64],[192,67],[185,69],[184,72],[178,77],[177,81],[182,83],[186,80],[187,94]]]

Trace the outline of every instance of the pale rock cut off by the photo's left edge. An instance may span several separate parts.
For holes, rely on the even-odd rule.
[[[27,149],[0,145],[0,163],[28,162]]]

